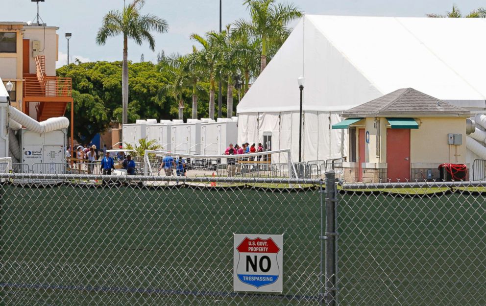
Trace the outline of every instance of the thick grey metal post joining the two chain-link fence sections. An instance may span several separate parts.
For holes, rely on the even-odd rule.
[[[325,272],[325,303],[326,306],[336,306],[336,173],[330,169],[325,174],[326,185],[326,272]]]

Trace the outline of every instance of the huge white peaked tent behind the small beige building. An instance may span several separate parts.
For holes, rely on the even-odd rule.
[[[239,103],[238,142],[271,133],[271,149],[298,156],[300,75],[305,161],[345,156],[340,112],[400,88],[484,113],[484,33],[479,18],[306,15]]]

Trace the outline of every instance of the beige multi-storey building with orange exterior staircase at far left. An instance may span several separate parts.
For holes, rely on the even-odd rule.
[[[73,103],[71,78],[56,77],[58,29],[0,22],[0,77],[13,84],[11,105],[38,121],[64,116],[68,103]]]

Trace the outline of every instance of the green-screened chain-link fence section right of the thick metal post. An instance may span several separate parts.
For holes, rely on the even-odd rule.
[[[486,305],[486,183],[344,184],[340,305]]]

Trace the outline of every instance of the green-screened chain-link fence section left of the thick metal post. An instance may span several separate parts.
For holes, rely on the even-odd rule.
[[[0,177],[0,305],[321,305],[320,180]],[[233,291],[233,233],[284,235],[283,292]]]

